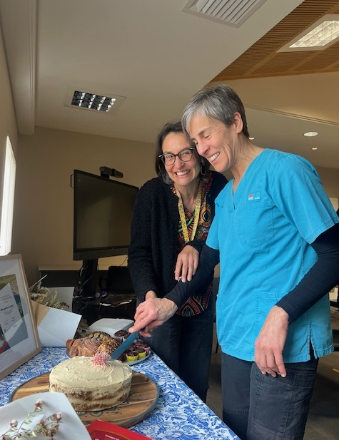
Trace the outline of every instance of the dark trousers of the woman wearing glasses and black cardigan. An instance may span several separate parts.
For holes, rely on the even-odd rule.
[[[193,317],[175,314],[143,338],[158,357],[203,401],[206,401],[213,342],[215,297],[208,309]]]

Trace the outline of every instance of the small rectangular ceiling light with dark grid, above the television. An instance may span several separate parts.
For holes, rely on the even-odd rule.
[[[65,106],[96,111],[97,113],[116,113],[126,97],[111,93],[93,93],[78,87],[69,88]]]

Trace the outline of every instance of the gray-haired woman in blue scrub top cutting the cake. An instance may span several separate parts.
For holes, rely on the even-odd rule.
[[[196,93],[183,127],[198,153],[233,179],[216,200],[193,280],[138,307],[133,330],[165,322],[220,261],[223,420],[242,440],[301,440],[318,359],[333,351],[338,215],[307,160],[251,143],[231,88]]]

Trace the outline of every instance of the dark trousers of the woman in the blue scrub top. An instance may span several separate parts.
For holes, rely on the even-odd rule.
[[[302,440],[318,359],[285,364],[285,378],[222,354],[223,421],[241,440]]]

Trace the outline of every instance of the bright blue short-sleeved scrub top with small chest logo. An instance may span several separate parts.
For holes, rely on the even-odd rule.
[[[233,180],[216,199],[207,245],[220,250],[216,303],[218,342],[224,353],[254,360],[254,343],[270,309],[293,290],[317,260],[310,246],[339,222],[318,173],[307,160],[263,150],[233,195]],[[284,362],[333,351],[325,295],[288,329]]]

